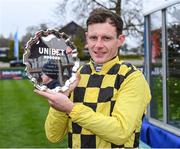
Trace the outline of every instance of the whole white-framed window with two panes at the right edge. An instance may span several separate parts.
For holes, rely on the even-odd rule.
[[[145,14],[145,74],[150,123],[180,135],[180,1]]]

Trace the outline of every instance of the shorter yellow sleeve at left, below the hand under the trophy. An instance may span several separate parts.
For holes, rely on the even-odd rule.
[[[61,141],[67,133],[68,116],[50,107],[45,121],[45,132],[49,141]]]

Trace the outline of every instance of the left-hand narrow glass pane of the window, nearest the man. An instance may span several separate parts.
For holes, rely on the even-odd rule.
[[[151,117],[163,119],[163,89],[162,89],[162,25],[161,12],[155,12],[150,17],[150,51],[151,51]]]

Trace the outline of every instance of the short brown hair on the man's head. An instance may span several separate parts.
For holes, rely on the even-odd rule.
[[[123,21],[121,17],[108,9],[103,9],[103,8],[94,9],[90,13],[89,18],[86,21],[86,25],[88,27],[91,24],[105,23],[105,22],[109,22],[111,25],[116,27],[117,35],[122,34]]]

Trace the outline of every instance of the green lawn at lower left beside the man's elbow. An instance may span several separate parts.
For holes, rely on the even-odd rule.
[[[67,147],[67,138],[53,144],[46,139],[44,122],[49,105],[33,92],[29,80],[0,80],[0,147]]]

